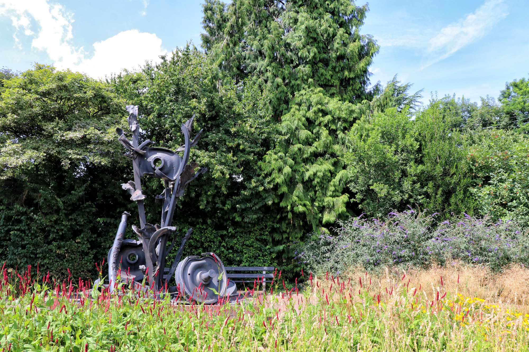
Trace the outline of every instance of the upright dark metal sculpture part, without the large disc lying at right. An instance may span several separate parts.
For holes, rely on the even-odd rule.
[[[149,147],[149,145],[153,144],[152,141],[147,140],[141,144],[139,143],[138,106],[127,105],[126,109],[129,112],[127,121],[132,132],[132,141],[127,139],[122,129],[117,128],[116,133],[118,134],[118,141],[129,150],[127,155],[132,158],[134,180],[123,183],[121,186],[124,190],[129,191],[131,200],[138,204],[140,227],[133,225],[132,229],[138,236],[139,241],[123,240],[126,229],[126,217],[128,216],[128,213],[124,213],[114,239],[114,245],[108,254],[108,277],[112,282],[111,291],[114,290],[118,277],[122,282],[133,281],[136,283],[148,277],[149,285],[154,291],[167,292],[171,291],[166,290],[168,289],[167,282],[176,271],[178,261],[184,252],[185,244],[193,232],[193,229],[187,231],[181,241],[175,261],[169,270],[169,275],[164,278],[163,268],[165,267],[166,257],[172,247],[174,247],[178,235],[176,227],[171,226],[176,199],[184,195],[189,182],[207,171],[206,168],[199,168],[195,162],[188,164],[190,149],[198,143],[202,129],[191,141],[191,127],[195,119],[195,115],[193,115],[185,124],[181,125],[185,143],[176,152],[166,148]],[[177,152],[183,152],[183,156],[178,155]],[[163,180],[164,190],[156,196],[156,201],[162,202],[161,225],[152,225],[145,221],[143,205],[145,195],[141,189],[141,178],[144,175]],[[173,239],[171,246],[167,249],[169,238]],[[175,290],[173,289],[172,291]]]

